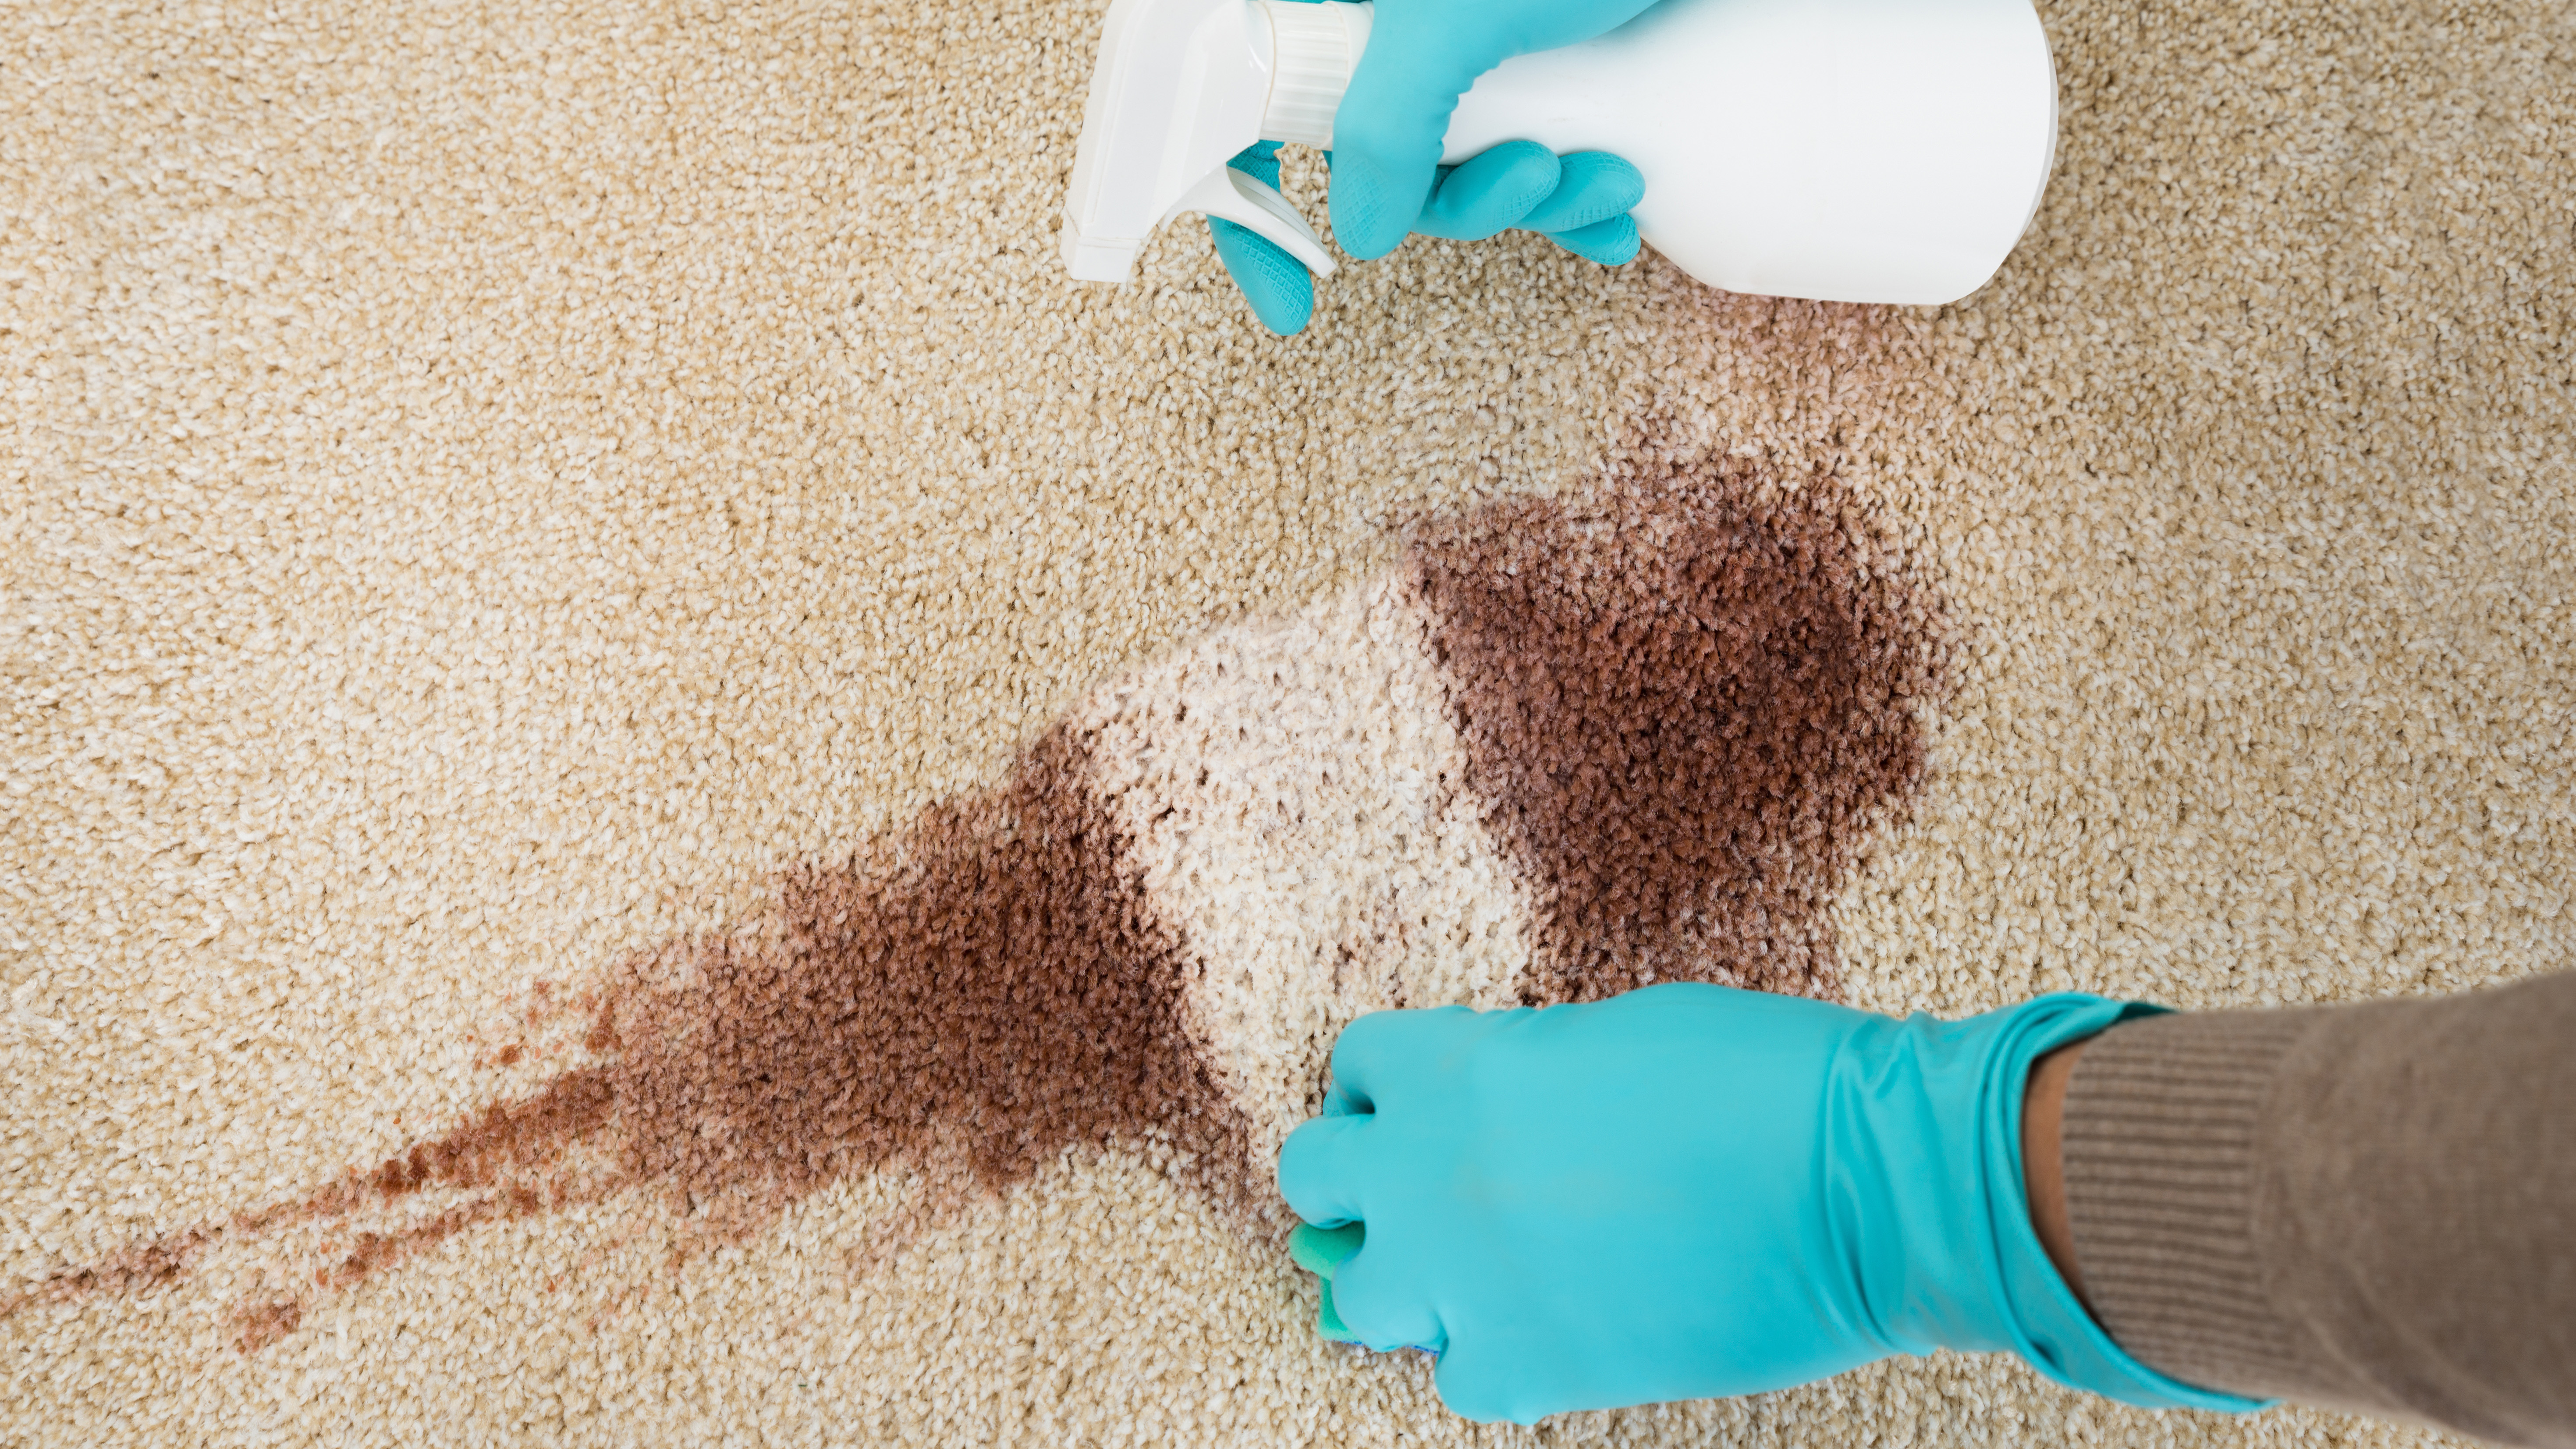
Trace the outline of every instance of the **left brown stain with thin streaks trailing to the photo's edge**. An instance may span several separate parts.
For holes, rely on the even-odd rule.
[[[791,874],[747,931],[626,962],[592,998],[608,1060],[482,1109],[304,1199],[191,1227],[0,1302],[173,1281],[216,1238],[451,1194],[343,1238],[340,1292],[492,1220],[659,1186],[737,1240],[842,1176],[909,1163],[914,1220],[1033,1176],[1066,1147],[1131,1147],[1247,1204],[1247,1132],[1182,1024],[1185,959],[1128,843],[1082,789],[1084,745],[1043,737],[992,794],[940,804],[848,869]],[[258,1351],[296,1299],[234,1310]]]

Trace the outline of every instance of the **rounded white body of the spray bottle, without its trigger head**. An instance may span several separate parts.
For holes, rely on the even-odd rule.
[[[1662,0],[1486,72],[1443,160],[1618,152],[1638,235],[1710,286],[1942,304],[2030,227],[2056,131],[2030,0]]]

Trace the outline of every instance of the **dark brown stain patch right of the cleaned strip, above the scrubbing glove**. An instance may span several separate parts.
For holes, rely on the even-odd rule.
[[[1435,523],[1471,784],[1538,895],[1525,998],[1832,993],[1826,905],[1924,776],[1940,621],[1852,492],[1731,459]]]

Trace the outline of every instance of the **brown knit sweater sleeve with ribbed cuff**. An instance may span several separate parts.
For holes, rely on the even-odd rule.
[[[2576,972],[2117,1026],[2063,1160],[2087,1297],[2146,1364],[2576,1446]]]

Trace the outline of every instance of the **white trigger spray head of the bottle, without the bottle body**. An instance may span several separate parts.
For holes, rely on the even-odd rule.
[[[1252,142],[1332,144],[1373,15],[1298,0],[1115,0],[1064,199],[1074,278],[1128,281],[1146,237],[1185,211],[1249,227],[1329,276],[1332,255],[1296,206],[1226,160]]]

